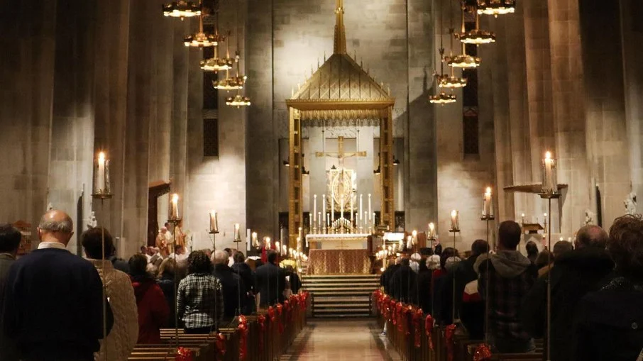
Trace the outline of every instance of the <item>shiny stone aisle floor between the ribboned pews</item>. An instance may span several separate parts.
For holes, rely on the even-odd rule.
[[[373,318],[309,320],[281,361],[400,361]]]

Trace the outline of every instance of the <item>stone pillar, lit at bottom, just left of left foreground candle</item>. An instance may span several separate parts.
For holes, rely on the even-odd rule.
[[[95,1],[77,0],[56,9],[57,22],[65,26],[56,28],[48,201],[72,217],[76,234],[68,248],[78,255],[92,202],[96,7]]]

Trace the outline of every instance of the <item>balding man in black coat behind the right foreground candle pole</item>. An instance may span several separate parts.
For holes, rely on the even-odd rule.
[[[614,262],[605,251],[607,240],[603,228],[584,226],[576,233],[576,250],[556,257],[551,268],[551,361],[571,360],[570,326],[578,301],[608,281]],[[546,336],[547,277],[538,279],[524,299],[521,314],[532,336]]]

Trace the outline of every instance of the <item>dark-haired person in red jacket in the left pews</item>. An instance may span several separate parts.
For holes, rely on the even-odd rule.
[[[167,325],[170,307],[156,280],[145,270],[144,255],[133,255],[129,269],[138,307],[138,343],[160,343],[160,328]]]

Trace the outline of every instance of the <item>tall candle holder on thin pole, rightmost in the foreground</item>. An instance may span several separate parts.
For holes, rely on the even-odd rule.
[[[561,198],[561,193],[558,189],[558,182],[556,179],[556,167],[557,162],[554,157],[552,157],[551,152],[545,152],[545,157],[542,160],[542,188],[541,192],[538,194],[541,199],[547,200],[547,218],[545,218],[545,223],[549,223],[549,228],[546,229],[547,233],[547,248],[549,252],[547,254],[547,262],[551,265],[551,231],[553,227],[551,225],[551,200]],[[547,355],[546,360],[551,360],[551,272],[547,272]]]

